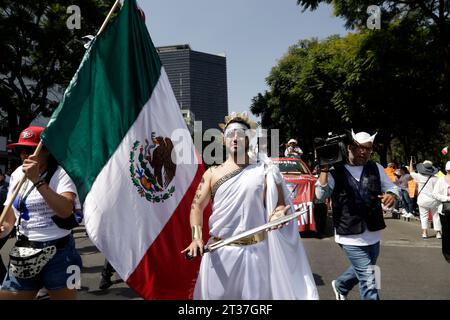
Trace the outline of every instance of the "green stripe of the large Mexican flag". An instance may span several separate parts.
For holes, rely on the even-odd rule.
[[[126,0],[116,20],[92,42],[42,134],[82,203],[150,99],[160,71],[136,1]]]

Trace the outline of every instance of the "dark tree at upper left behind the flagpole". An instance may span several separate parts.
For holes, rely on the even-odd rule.
[[[96,34],[113,0],[0,0],[0,117],[15,140],[38,114],[56,107],[84,55],[82,37]],[[81,29],[66,25],[81,9]]]

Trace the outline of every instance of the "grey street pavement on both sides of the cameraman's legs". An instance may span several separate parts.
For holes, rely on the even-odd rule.
[[[380,257],[381,299],[450,299],[450,264],[441,253],[441,240],[433,236],[422,240],[418,221],[386,219]],[[305,238],[321,299],[334,299],[331,281],[348,267],[347,258],[334,237]],[[354,288],[349,299],[359,299]]]

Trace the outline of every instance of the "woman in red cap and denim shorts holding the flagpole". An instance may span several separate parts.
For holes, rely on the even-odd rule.
[[[73,270],[80,275],[81,257],[70,227],[61,221],[67,222],[73,216],[77,192],[73,181],[45,148],[33,155],[43,130],[29,127],[22,131],[17,143],[8,145],[23,161],[11,175],[8,199],[22,177],[27,179],[0,226],[2,238],[14,225],[17,228],[17,242],[0,291],[3,299],[34,299],[42,287],[51,299],[76,298],[76,285],[71,285],[71,279]]]

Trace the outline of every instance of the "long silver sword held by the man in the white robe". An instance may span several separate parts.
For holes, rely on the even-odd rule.
[[[264,231],[266,229],[274,228],[274,227],[277,227],[279,225],[285,224],[285,223],[287,223],[287,222],[289,222],[291,220],[294,220],[294,219],[296,219],[296,218],[300,217],[301,215],[303,215],[305,213],[308,213],[308,212],[309,212],[308,208],[303,209],[303,210],[299,210],[299,211],[295,211],[292,214],[285,215],[284,217],[275,219],[275,220],[273,220],[271,222],[268,222],[268,223],[265,223],[265,224],[263,224],[263,225],[261,225],[259,227],[255,227],[255,228],[249,229],[247,231],[244,231],[244,232],[241,232],[241,233],[236,234],[234,236],[231,236],[231,237],[229,237],[227,239],[222,239],[222,240],[214,242],[214,243],[212,243],[210,245],[206,245],[203,248],[203,253],[213,252],[213,251],[215,251],[215,250],[217,250],[219,248],[222,248],[222,247],[224,247],[226,245],[229,245],[230,243],[233,243],[233,242],[235,242],[237,240],[241,240],[243,238],[247,238],[247,237],[253,236],[253,235],[255,235],[255,234],[257,234],[257,233],[259,233],[261,231]],[[194,258],[194,256],[191,256],[189,254],[189,251],[186,251],[186,253],[184,255],[185,255],[186,259],[188,259],[188,260],[191,260],[191,259]]]

